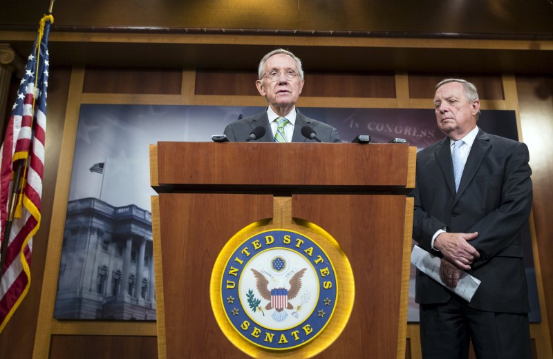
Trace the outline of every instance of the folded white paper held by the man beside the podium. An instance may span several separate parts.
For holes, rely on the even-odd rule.
[[[478,289],[478,286],[480,285],[479,279],[474,278],[469,273],[464,272],[459,278],[457,287],[448,287],[440,279],[440,258],[431,255],[427,251],[424,251],[424,249],[420,248],[420,246],[413,247],[413,251],[411,252],[411,264],[417,267],[419,271],[422,271],[422,273],[428,275],[430,278],[440,283],[442,286],[449,289],[453,293],[456,293],[467,302],[471,301],[474,293],[476,293],[476,289]]]

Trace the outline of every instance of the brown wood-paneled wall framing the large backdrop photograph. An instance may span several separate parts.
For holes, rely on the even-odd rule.
[[[519,133],[529,146],[534,171],[534,258],[538,258],[536,269],[543,280],[540,288],[543,319],[545,324],[552,323],[553,264],[548,258],[553,255],[553,226],[549,214],[553,200],[550,184],[553,162],[545,157],[550,151],[543,147],[553,135],[551,77],[315,72],[306,74],[306,87],[299,106],[431,108],[433,86],[450,76],[474,81],[480,90],[482,108],[516,110],[521,124]],[[128,347],[140,347],[140,358],[157,356],[153,339],[155,324],[53,320],[79,106],[84,103],[263,106],[265,99],[256,92],[255,79],[255,70],[250,73],[224,69],[130,70],[76,66],[50,70],[43,217],[33,247],[31,290],[0,336],[2,358],[32,358],[30,343],[34,343],[35,358],[82,357],[82,353],[91,348],[102,348],[103,358],[120,358],[121,348]],[[53,188],[56,188],[55,193]],[[38,328],[36,333],[35,327]],[[543,326],[536,327],[533,324],[532,336],[543,341],[540,337]],[[409,358],[418,358],[418,339],[414,331],[412,335],[407,353]],[[537,352],[541,353],[540,350]]]

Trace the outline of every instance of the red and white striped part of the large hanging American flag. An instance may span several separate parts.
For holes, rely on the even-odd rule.
[[[15,218],[8,238],[8,251],[4,262],[5,273],[0,281],[0,331],[6,325],[19,303],[25,297],[30,284],[30,260],[32,236],[39,229],[42,179],[44,175],[44,142],[46,139],[46,115],[35,106],[32,121],[34,84],[28,84],[24,99],[23,116],[12,115],[0,154],[1,175],[1,236],[3,237],[8,215],[8,195],[14,185],[12,159],[26,159],[26,184],[23,191],[21,218]],[[34,126],[32,137],[31,126]],[[14,141],[14,139],[17,139]],[[32,141],[32,146],[30,146]],[[28,154],[28,155],[27,155]]]

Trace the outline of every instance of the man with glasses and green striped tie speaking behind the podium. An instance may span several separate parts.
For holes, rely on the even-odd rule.
[[[269,52],[259,63],[259,79],[256,87],[268,101],[268,108],[261,113],[244,117],[225,128],[225,135],[232,142],[242,142],[256,127],[265,128],[259,142],[316,142],[301,134],[303,126],[311,126],[321,142],[340,142],[336,128],[310,119],[295,108],[303,88],[301,61],[292,52],[277,49]]]

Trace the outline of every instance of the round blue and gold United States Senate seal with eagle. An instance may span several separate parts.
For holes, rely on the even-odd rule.
[[[285,229],[256,233],[236,246],[219,285],[228,323],[247,342],[275,351],[317,338],[339,301],[327,253],[310,237]]]

